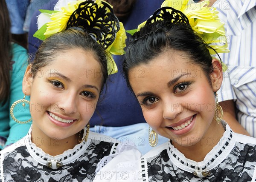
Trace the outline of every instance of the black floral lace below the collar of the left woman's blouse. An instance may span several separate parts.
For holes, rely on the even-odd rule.
[[[26,146],[20,146],[5,156],[3,177],[9,182],[90,182],[96,175],[99,161],[111,154],[113,144],[91,140],[79,158],[57,170],[38,163]]]

